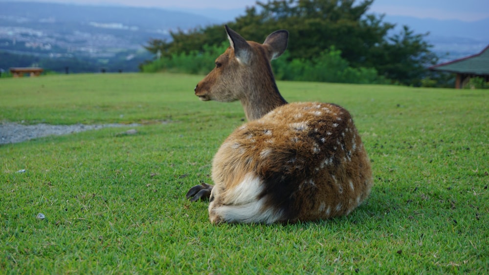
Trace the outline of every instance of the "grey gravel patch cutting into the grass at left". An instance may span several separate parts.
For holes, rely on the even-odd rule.
[[[96,130],[107,127],[136,127],[139,124],[102,124],[102,125],[22,125],[11,122],[0,122],[0,144],[17,143],[33,138],[50,135],[66,135],[88,130]]]

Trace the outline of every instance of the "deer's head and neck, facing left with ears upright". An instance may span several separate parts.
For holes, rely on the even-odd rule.
[[[275,31],[263,44],[244,40],[227,25],[226,33],[230,46],[216,59],[215,68],[195,87],[195,95],[202,101],[240,100],[249,120],[285,104],[275,84],[270,61],[286,50],[289,33]],[[259,111],[248,110],[250,105]]]

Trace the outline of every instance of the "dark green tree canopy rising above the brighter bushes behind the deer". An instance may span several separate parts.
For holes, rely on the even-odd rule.
[[[404,26],[391,35],[395,25],[383,16],[367,14],[373,0],[272,0],[256,2],[243,16],[227,24],[244,38],[261,42],[277,29],[289,31],[288,61],[312,63],[334,47],[353,68],[374,68],[382,77],[404,85],[421,85],[424,66],[436,62],[427,34],[414,34]],[[219,45],[225,39],[223,25],[171,33],[163,43],[169,56],[204,45]],[[324,57],[324,56],[323,56]],[[296,61],[297,62],[297,61]]]

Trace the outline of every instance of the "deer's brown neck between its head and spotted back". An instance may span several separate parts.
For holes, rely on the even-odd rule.
[[[247,96],[241,99],[248,121],[259,119],[276,107],[287,104],[278,90],[273,74],[253,83],[249,89]]]

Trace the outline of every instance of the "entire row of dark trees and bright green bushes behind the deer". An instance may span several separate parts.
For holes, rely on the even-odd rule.
[[[425,41],[428,34],[416,34],[408,26],[395,33],[395,24],[368,13],[373,2],[257,1],[227,24],[245,39],[257,42],[275,30],[289,31],[286,54],[272,63],[277,79],[413,86],[433,79],[426,67],[438,57]],[[223,25],[178,30],[171,33],[171,41],[150,40],[145,48],[157,58],[141,65],[141,70],[209,71],[228,45]],[[185,64],[192,61],[193,65]],[[201,67],[189,68],[197,65]]]

